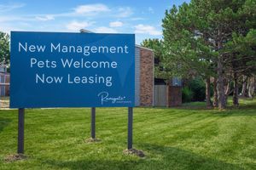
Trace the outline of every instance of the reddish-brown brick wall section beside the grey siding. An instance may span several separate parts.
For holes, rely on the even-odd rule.
[[[154,53],[140,48],[140,105],[152,106],[154,100]]]

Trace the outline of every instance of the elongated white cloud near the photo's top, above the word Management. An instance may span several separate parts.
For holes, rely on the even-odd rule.
[[[110,9],[108,6],[102,3],[80,5],[77,8],[74,8],[76,14],[96,14],[100,12],[108,12]]]

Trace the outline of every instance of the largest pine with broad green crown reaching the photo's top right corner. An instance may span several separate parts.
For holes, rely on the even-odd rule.
[[[226,53],[225,46],[234,33],[244,37],[255,27],[255,8],[254,0],[191,0],[166,11],[163,34],[166,59],[170,59],[167,67],[177,67],[176,73],[183,76],[191,72],[205,78],[216,76],[219,109],[226,106],[226,64],[234,60],[227,57],[231,53]]]

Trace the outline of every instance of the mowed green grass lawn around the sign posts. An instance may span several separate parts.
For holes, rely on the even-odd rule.
[[[17,111],[0,110],[0,169],[256,169],[256,100],[239,108],[207,110],[135,108],[134,148],[123,154],[127,108],[96,109],[97,143],[90,137],[90,109],[26,110],[26,160],[7,162],[17,147]]]

